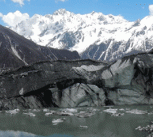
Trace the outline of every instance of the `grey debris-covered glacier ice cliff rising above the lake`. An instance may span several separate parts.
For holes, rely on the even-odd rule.
[[[0,108],[153,104],[153,54],[45,61],[0,75]]]

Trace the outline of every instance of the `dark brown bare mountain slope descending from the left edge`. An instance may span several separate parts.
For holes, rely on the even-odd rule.
[[[0,25],[0,70],[38,61],[79,59],[77,52],[42,47]]]

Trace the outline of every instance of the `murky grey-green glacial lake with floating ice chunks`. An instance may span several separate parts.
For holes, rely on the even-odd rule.
[[[153,106],[1,111],[0,137],[147,137],[151,121]]]

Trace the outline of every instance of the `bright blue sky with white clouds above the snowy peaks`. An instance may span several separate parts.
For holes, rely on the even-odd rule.
[[[13,26],[34,14],[52,14],[64,8],[87,14],[92,11],[121,15],[129,21],[153,14],[152,0],[0,0],[0,24]],[[5,23],[4,23],[5,22]]]

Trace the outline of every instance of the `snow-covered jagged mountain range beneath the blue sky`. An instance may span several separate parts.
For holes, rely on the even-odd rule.
[[[52,15],[36,14],[11,29],[42,46],[76,50],[82,58],[115,60],[153,47],[151,15],[130,22],[122,16],[60,9]]]

